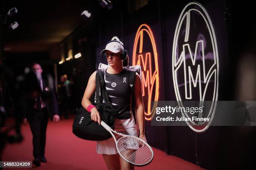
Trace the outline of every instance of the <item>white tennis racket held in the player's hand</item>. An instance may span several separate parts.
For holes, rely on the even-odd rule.
[[[145,166],[153,160],[153,150],[144,140],[135,136],[119,133],[110,128],[103,121],[101,121],[100,124],[113,136],[118,154],[126,162],[131,163],[134,166]],[[113,133],[122,137],[116,140]]]

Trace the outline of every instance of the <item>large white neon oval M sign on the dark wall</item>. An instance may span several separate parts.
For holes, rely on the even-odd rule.
[[[212,22],[197,2],[187,4],[179,16],[172,48],[172,75],[179,107],[184,107],[184,101],[200,101],[200,107],[204,101],[212,101],[210,109],[199,114],[210,117],[210,122],[186,121],[193,131],[204,132],[218,100],[219,61]],[[184,117],[189,117],[188,114],[182,112]]]

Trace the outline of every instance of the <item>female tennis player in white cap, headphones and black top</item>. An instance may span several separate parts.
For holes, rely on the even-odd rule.
[[[138,136],[146,141],[144,133],[144,105],[141,93],[141,79],[136,73],[134,82],[134,97],[136,105],[136,117],[138,128],[136,128],[135,117],[131,111],[131,87],[129,84],[129,69],[123,67],[123,60],[125,60],[127,52],[122,42],[118,40],[111,40],[102,50],[110,65],[105,69],[105,84],[109,95],[110,102],[113,107],[118,110],[119,117],[115,119],[115,129],[118,132],[125,133],[132,136]],[[91,112],[91,118],[100,124],[100,114],[94,105],[90,102],[91,96],[94,94],[96,71],[92,73],[89,78],[84,96],[82,99],[82,106],[88,112]],[[103,100],[104,102],[104,100]],[[127,163],[123,158],[120,158],[115,147],[113,138],[104,141],[97,141],[97,153],[102,154],[105,163],[109,170],[133,170],[134,166]]]

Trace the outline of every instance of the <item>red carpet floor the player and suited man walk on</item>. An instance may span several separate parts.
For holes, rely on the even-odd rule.
[[[96,153],[96,142],[77,138],[72,133],[73,119],[49,122],[46,137],[47,163],[37,170],[106,170],[102,155]],[[2,154],[3,161],[32,161],[32,134],[29,125],[22,125],[24,140],[19,144],[8,144]],[[201,170],[199,166],[181,158],[167,155],[153,148],[154,159],[136,170]],[[6,168],[7,169],[7,168]],[[17,168],[8,168],[8,170]],[[18,168],[30,169],[30,168]]]

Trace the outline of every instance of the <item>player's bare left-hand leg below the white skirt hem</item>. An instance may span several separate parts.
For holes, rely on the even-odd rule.
[[[105,160],[108,170],[120,170],[121,169],[118,154],[114,154],[114,155],[102,154],[102,156]]]

